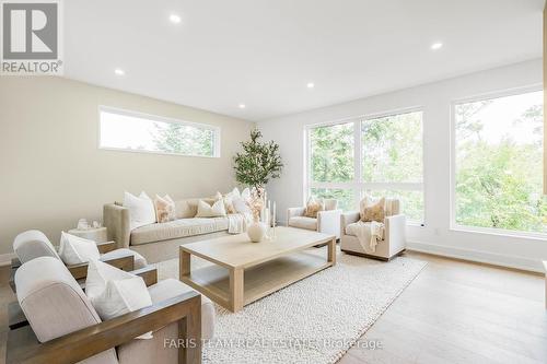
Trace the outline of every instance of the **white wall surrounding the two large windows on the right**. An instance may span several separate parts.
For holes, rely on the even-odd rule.
[[[543,271],[547,240],[450,228],[451,103],[455,99],[543,82],[542,59],[492,69],[374,97],[258,122],[266,139],[280,144],[282,177],[270,183],[269,196],[280,211],[303,203],[304,127],[310,124],[423,108],[426,226],[409,226],[409,248],[535,271]],[[284,216],[281,216],[284,220]]]

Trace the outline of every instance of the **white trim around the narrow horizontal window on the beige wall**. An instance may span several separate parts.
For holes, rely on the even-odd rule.
[[[170,152],[161,152],[161,151],[137,150],[137,149],[129,149],[129,148],[102,146],[101,145],[101,113],[102,111],[118,114],[118,115],[124,115],[124,116],[129,116],[129,117],[137,117],[137,118],[148,119],[148,120],[152,120],[152,121],[181,124],[181,125],[185,125],[185,126],[193,126],[193,127],[197,127],[197,128],[201,128],[201,129],[212,130],[213,134],[214,134],[213,155],[182,154],[182,153],[170,153]],[[97,149],[100,149],[100,150],[129,152],[129,153],[175,155],[175,156],[182,156],[182,157],[188,157],[188,156],[189,157],[202,157],[202,158],[218,158],[218,157],[220,157],[221,128],[218,126],[179,120],[179,119],[175,119],[175,118],[168,118],[168,117],[146,114],[146,113],[135,111],[135,110],[128,110],[128,109],[124,109],[124,108],[117,108],[117,107],[105,106],[105,105],[98,106],[97,119],[98,119],[98,122],[97,122],[97,125],[98,125],[98,127],[97,127]]]

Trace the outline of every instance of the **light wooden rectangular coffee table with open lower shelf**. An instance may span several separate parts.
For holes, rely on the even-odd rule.
[[[336,265],[336,237],[294,227],[276,227],[277,238],[251,243],[247,234],[181,246],[181,281],[219,305],[244,305]],[[327,243],[326,259],[306,249]],[[314,248],[315,250],[315,248]],[[214,265],[190,268],[190,256]]]

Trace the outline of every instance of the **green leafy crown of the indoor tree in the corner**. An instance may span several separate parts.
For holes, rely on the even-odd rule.
[[[274,141],[260,142],[261,132],[251,131],[251,141],[242,142],[243,152],[234,156],[235,179],[244,185],[264,188],[271,178],[279,178],[283,163],[279,145]]]

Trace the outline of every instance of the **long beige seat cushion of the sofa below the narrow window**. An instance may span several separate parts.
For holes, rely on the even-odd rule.
[[[228,230],[228,218],[178,219],[141,226],[131,232],[131,245],[155,243]]]

